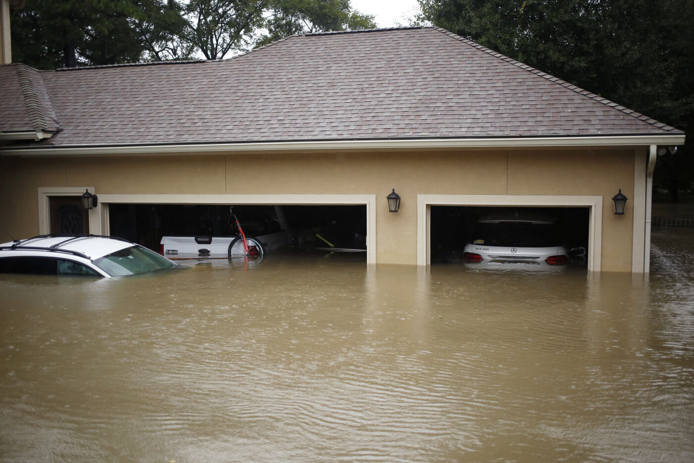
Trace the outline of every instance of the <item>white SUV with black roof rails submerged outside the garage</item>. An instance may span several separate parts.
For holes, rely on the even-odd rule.
[[[0,273],[124,277],[176,264],[115,236],[42,235],[0,244]]]

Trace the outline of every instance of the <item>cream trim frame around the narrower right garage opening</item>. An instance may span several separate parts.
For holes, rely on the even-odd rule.
[[[600,271],[602,196],[417,195],[417,265],[431,263],[431,206],[525,206],[589,208],[588,270]]]

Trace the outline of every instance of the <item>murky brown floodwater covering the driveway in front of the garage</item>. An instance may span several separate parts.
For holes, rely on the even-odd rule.
[[[0,276],[2,462],[694,461],[694,229],[652,274]]]

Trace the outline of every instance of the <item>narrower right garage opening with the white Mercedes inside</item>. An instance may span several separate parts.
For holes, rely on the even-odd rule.
[[[585,269],[589,230],[589,207],[431,206],[431,263],[493,260]]]

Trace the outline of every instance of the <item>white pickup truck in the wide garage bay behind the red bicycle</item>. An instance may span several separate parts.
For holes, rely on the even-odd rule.
[[[246,236],[249,246],[255,246],[260,256],[289,246],[287,232],[281,231],[262,236]],[[234,236],[162,236],[161,254],[176,259],[214,259],[244,255],[241,237]]]

